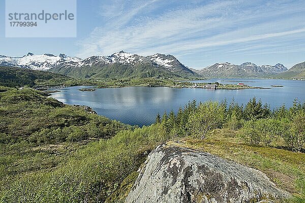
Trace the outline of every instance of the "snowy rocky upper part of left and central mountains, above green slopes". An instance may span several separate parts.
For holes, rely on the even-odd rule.
[[[35,55],[33,53],[28,53],[23,57],[0,56],[0,66],[15,66],[43,71],[50,70],[54,73],[58,71],[58,73],[65,75],[71,72],[70,69],[78,68],[78,70],[82,69],[84,70],[83,72],[88,72],[89,69],[101,69],[104,66],[117,66],[120,64],[130,66],[130,70],[133,72],[136,71],[136,67],[141,66],[146,67],[147,70],[145,71],[160,69],[161,72],[163,70],[163,72],[169,71],[174,73],[173,76],[177,76],[176,74],[178,74],[178,76],[197,75],[188,69],[188,67],[181,64],[174,56],[164,54],[155,54],[153,56],[145,57],[119,51],[111,54],[110,56],[91,56],[86,59],[69,57],[65,54],[54,56],[53,54]],[[124,69],[126,69],[126,67],[124,67]],[[160,70],[155,71],[159,72]],[[100,70],[94,70],[95,73],[99,71]],[[93,73],[88,73],[88,75],[91,76]]]

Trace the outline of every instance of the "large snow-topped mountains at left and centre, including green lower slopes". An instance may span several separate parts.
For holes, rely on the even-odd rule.
[[[50,71],[74,78],[200,77],[172,55],[140,56],[124,51],[86,59],[65,54],[28,53],[23,57],[0,55],[0,66]]]

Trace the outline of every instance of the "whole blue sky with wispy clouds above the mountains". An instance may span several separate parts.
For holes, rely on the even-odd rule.
[[[4,14],[4,0],[0,8]],[[303,0],[78,0],[77,38],[5,38],[4,23],[2,15],[0,54],[8,56],[86,58],[124,50],[172,54],[195,69],[216,62],[291,67],[305,61]]]

